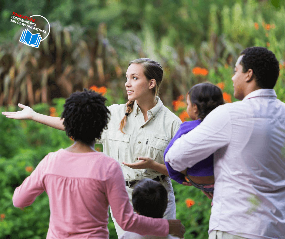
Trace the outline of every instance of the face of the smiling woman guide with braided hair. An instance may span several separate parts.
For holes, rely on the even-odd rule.
[[[148,80],[143,72],[143,66],[141,64],[129,65],[126,72],[126,90],[128,99],[143,100],[152,96],[152,89],[155,87],[155,80]]]

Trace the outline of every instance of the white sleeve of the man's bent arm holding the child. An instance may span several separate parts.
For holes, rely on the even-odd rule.
[[[211,111],[196,128],[170,147],[165,161],[176,171],[193,167],[230,142],[231,121],[225,105]]]

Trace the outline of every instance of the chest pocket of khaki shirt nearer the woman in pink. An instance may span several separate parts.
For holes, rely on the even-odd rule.
[[[108,133],[110,157],[119,163],[123,161],[128,162],[130,136],[130,134],[123,134],[122,132],[116,131]]]

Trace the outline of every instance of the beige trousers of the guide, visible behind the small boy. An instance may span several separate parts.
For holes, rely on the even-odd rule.
[[[165,177],[163,179],[163,181],[162,181],[162,185],[165,187],[165,189],[167,191],[167,198],[168,198],[167,208],[166,208],[166,211],[165,211],[165,213],[163,215],[163,218],[166,218],[166,219],[176,219],[175,197],[174,197],[174,192],[173,192],[173,187],[172,187],[172,184],[171,184],[170,177]],[[126,187],[126,190],[127,190],[128,195],[129,195],[129,202],[132,204],[132,190],[133,189],[129,188],[129,187]],[[125,233],[125,231],[116,222],[116,219],[113,216],[111,207],[110,207],[110,212],[111,212],[112,220],[113,220],[113,222],[115,224],[117,235],[120,238],[122,236],[122,234]]]

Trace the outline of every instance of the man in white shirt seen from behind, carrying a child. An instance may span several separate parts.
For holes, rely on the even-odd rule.
[[[177,139],[166,154],[183,171],[214,153],[209,239],[285,238],[285,103],[273,87],[279,62],[263,47],[241,52],[234,97]]]

